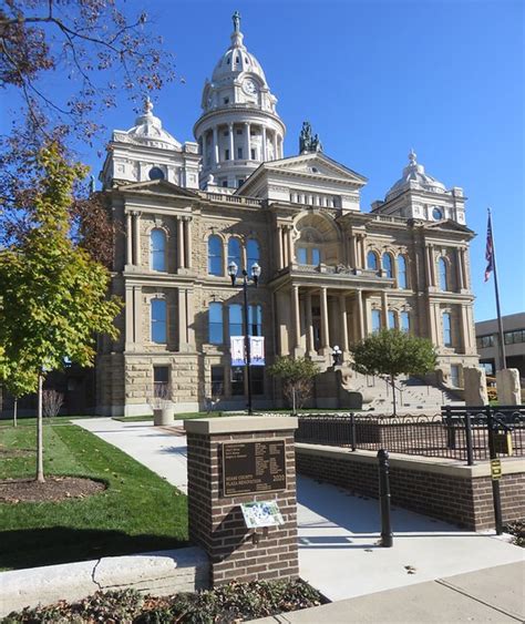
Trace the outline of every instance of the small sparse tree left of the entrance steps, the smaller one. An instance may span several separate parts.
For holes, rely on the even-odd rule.
[[[311,396],[313,378],[319,374],[319,367],[307,358],[277,358],[268,368],[268,372],[282,381],[282,392],[291,403],[294,413],[300,409]]]

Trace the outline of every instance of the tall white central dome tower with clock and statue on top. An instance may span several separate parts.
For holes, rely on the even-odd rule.
[[[233,16],[231,45],[203,90],[203,114],[194,126],[203,157],[200,188],[234,191],[262,162],[282,157],[286,126],[276,112],[259,61],[243,43],[240,16]]]

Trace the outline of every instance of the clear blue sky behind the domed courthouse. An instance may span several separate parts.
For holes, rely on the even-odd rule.
[[[303,120],[325,152],[369,178],[361,208],[400,177],[410,147],[426,172],[469,197],[476,320],[495,317],[483,283],[486,208],[493,209],[502,313],[525,310],[523,0],[145,0],[154,31],[176,55],[184,82],[154,98],[155,114],[191,141],[204,80],[229,45],[231,13],[266,72],[287,125],[285,155],[298,152]],[[123,100],[103,123],[133,125]],[[107,134],[109,136],[109,134]],[[95,149],[82,157],[97,174]]]

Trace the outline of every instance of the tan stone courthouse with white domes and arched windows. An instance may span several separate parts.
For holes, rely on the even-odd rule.
[[[120,338],[100,344],[97,411],[145,413],[156,385],[176,411],[209,397],[245,407],[247,380],[229,354],[244,331],[231,262],[239,274],[261,268],[248,325],[265,337],[267,365],[306,356],[330,370],[337,345],[351,389],[349,347],[397,327],[430,338],[433,380],[460,387],[478,359],[463,191],[446,190],[411,151],[384,200],[364,209],[367,178],[330,158],[308,123],[285,157],[277,99],[237,13],[230,40],[204,84],[195,142],[169,134],[150,101],[131,130],[113,132],[100,180],[120,225],[112,290],[125,308]],[[281,405],[265,367],[251,382],[256,407]]]

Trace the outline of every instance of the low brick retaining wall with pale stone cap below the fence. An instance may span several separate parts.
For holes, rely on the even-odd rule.
[[[373,451],[296,444],[297,472],[347,490],[378,497],[378,460]],[[525,460],[503,462],[503,519],[525,518]],[[488,462],[390,456],[392,503],[471,531],[494,528]]]

